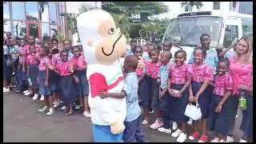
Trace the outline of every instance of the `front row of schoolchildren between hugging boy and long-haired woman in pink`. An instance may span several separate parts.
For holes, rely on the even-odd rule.
[[[191,119],[187,118],[184,112],[189,102],[198,102],[202,119],[193,122],[193,134],[189,139],[199,138],[198,142],[208,142],[207,127],[209,127],[210,130],[214,130],[212,142],[227,142],[227,134],[231,125],[234,125],[230,115],[230,107],[234,104],[230,100],[233,79],[229,73],[229,61],[226,58],[218,60],[217,75],[214,76],[213,68],[204,63],[206,50],[202,48],[194,50],[194,64],[186,64],[184,50],[178,50],[174,54],[173,62],[170,61],[172,58],[170,43],[165,45],[163,47],[166,49],[163,49],[161,54],[154,46],[148,50],[150,61],[145,62],[144,69],[136,70],[139,82],[138,97],[143,109],[142,124],[149,123],[152,108],[156,119],[150,128],[170,134],[171,122],[173,130],[178,128],[171,135],[177,138],[177,142],[185,142],[188,131],[186,123],[189,124]],[[145,50],[142,47],[137,46],[133,50],[134,55],[145,57]],[[252,76],[252,69],[250,71]],[[246,81],[250,83],[252,78]],[[244,119],[248,120],[248,118]],[[246,123],[249,125],[248,122]],[[242,130],[247,137],[251,137],[252,128],[247,125],[246,130],[244,128]],[[202,127],[201,137],[199,127]]]

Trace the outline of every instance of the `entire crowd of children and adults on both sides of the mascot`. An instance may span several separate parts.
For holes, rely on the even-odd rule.
[[[86,55],[82,54],[81,46],[71,46],[70,40],[65,40],[61,47],[56,39],[50,45],[44,43],[38,46],[34,44],[33,37],[26,42],[25,39],[11,38],[10,33],[6,36],[3,47],[3,92],[10,91],[10,78],[14,72],[17,82],[15,92],[23,91],[24,95],[31,95],[34,100],[40,96],[40,100],[45,101],[40,112],[49,110],[47,114],[54,114],[54,108],[63,102],[65,106],[62,109],[68,115],[73,114],[75,106],[90,117]],[[130,48],[123,57],[126,58],[124,74],[129,79],[126,82],[130,82],[131,87],[124,87],[125,94],[118,94],[117,97],[138,97],[142,122],[138,115],[136,118],[132,115],[138,107],[127,106],[130,110],[127,110],[126,118],[136,122],[134,132],[125,131],[125,142],[130,142],[130,139],[134,141],[135,137],[136,141],[145,142],[140,125],[150,123],[152,112],[155,121],[150,123],[150,128],[171,134],[177,138],[177,142],[186,141],[188,128],[191,127],[188,125],[192,125],[192,134],[188,137],[190,140],[209,142],[207,132],[213,130],[214,139],[210,142],[234,142],[234,122],[241,95],[246,98],[247,109],[242,110],[240,128],[243,136],[240,142],[252,142],[252,38],[241,38],[220,54],[210,48],[210,35],[202,34],[200,41],[202,46],[194,50],[188,63],[186,51],[178,50],[174,55],[171,53],[171,42],[165,42],[162,46],[138,46],[135,41],[130,42]],[[229,51],[231,48],[234,48],[232,53]],[[144,67],[136,68],[136,57],[143,58]],[[137,77],[134,78],[134,75]],[[134,94],[131,91],[136,87],[138,93],[134,90]],[[104,97],[107,94],[102,94]],[[193,121],[184,114],[189,102],[200,106],[200,121]],[[125,122],[126,126],[129,122]]]

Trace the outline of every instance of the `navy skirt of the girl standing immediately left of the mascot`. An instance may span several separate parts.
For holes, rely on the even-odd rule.
[[[76,92],[78,96],[89,95],[89,83],[86,78],[86,70],[75,70],[74,74],[78,77],[79,83],[75,84]]]

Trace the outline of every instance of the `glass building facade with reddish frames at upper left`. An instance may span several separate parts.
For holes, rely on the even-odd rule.
[[[40,42],[50,42],[56,34],[65,34],[63,2],[4,2],[3,34],[13,38],[34,36]]]

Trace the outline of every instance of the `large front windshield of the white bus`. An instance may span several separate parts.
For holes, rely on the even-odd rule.
[[[162,42],[171,41],[178,46],[201,46],[200,36],[210,35],[210,46],[217,47],[222,26],[220,17],[189,17],[170,20]]]

